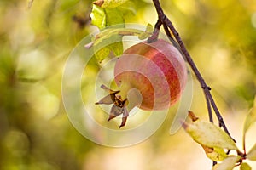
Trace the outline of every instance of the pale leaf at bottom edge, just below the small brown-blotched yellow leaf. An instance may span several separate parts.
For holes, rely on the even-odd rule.
[[[232,170],[240,159],[241,156],[228,156],[224,161],[212,167],[212,170]]]

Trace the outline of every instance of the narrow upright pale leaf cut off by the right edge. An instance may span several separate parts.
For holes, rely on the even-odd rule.
[[[250,109],[249,113],[247,114],[246,120],[243,125],[243,147],[245,149],[245,136],[247,133],[247,130],[253,125],[253,123],[256,122],[256,96],[254,98],[253,107]]]

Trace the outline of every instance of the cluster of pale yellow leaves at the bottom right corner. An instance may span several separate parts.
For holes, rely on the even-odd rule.
[[[256,122],[256,97],[254,105],[247,114],[243,126],[243,152],[236,146],[235,140],[212,122],[203,122],[192,111],[189,111],[192,122],[183,122],[183,128],[192,139],[201,144],[209,159],[219,162],[212,170],[232,170],[240,166],[241,170],[252,169],[244,160],[256,161],[256,143],[251,150],[246,151],[246,133]],[[230,150],[236,150],[236,155],[229,155]]]

